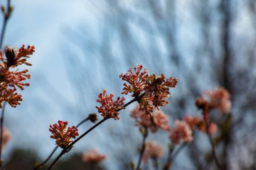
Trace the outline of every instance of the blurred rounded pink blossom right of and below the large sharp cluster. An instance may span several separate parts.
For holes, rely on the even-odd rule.
[[[183,120],[176,120],[175,128],[170,133],[170,140],[172,140],[174,144],[179,144],[181,140],[191,142],[193,140],[193,132],[189,124]]]

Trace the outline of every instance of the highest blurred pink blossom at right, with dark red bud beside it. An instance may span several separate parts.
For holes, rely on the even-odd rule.
[[[218,108],[222,114],[230,112],[231,101],[230,94],[224,87],[218,87],[214,91],[205,91],[196,101],[198,108],[205,110],[206,108]]]

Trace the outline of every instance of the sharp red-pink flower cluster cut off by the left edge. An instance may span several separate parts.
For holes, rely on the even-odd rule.
[[[0,51],[0,108],[1,103],[7,101],[11,107],[16,107],[22,101],[22,95],[15,93],[17,87],[24,89],[24,86],[29,86],[29,83],[22,83],[26,79],[30,79],[28,75],[28,70],[18,71],[15,67],[19,65],[31,66],[26,60],[30,58],[29,55],[33,54],[34,46],[23,45],[19,50],[13,50],[11,47],[5,48],[5,57],[3,58],[3,53]],[[15,68],[15,71],[11,71],[11,68]]]

